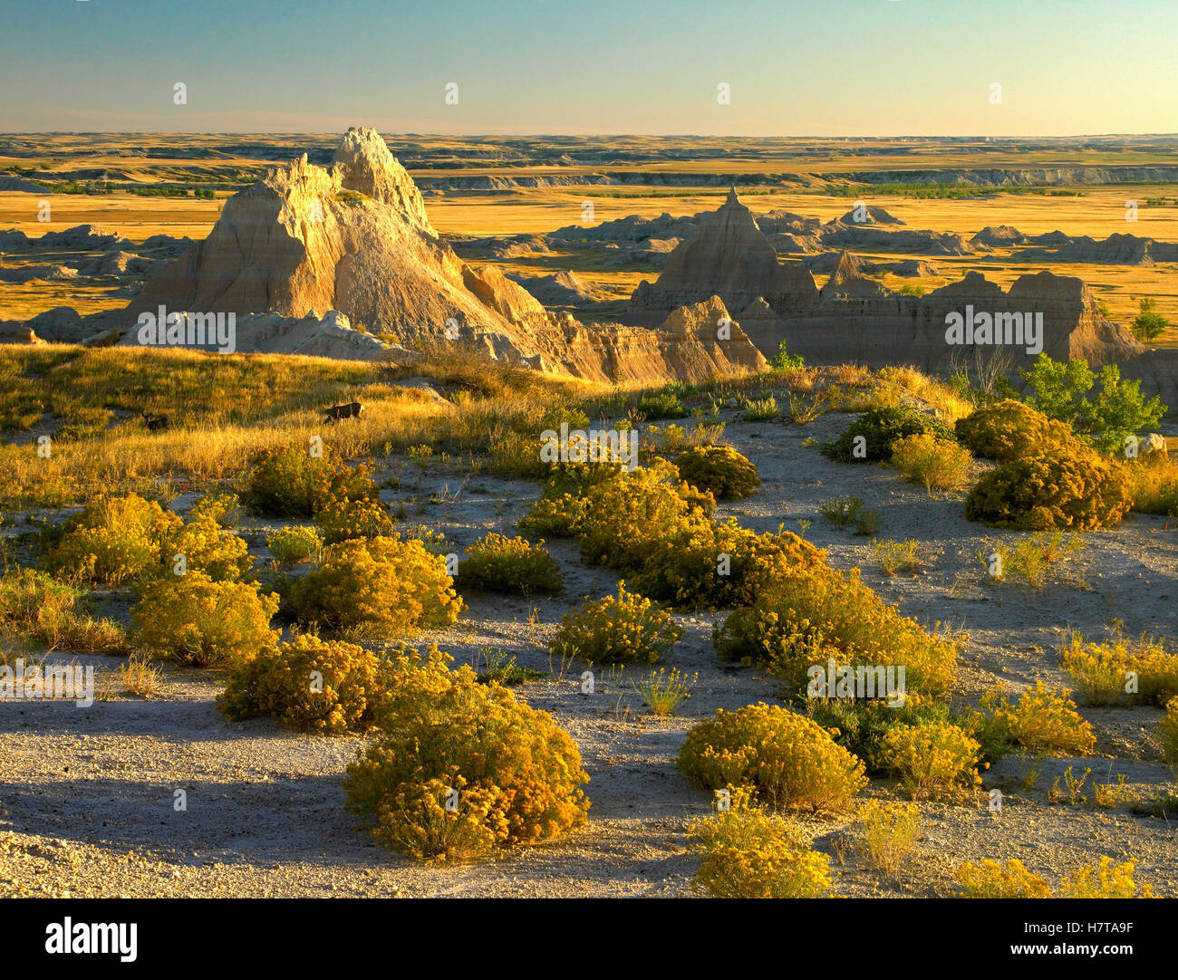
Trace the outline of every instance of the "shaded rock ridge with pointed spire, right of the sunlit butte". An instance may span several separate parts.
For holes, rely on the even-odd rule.
[[[987,236],[1013,237],[997,229]],[[944,373],[980,355],[1000,357],[1013,371],[1040,351],[1093,365],[1145,363],[1145,349],[1100,314],[1096,297],[1074,277],[1023,276],[1006,291],[971,272],[915,297],[869,279],[866,264],[843,252],[819,292],[808,272],[787,271],[770,261],[772,253],[753,216],[730,196],[675,251],[655,283],[635,290],[627,319],[649,323],[655,309],[715,293],[762,353],[774,355],[785,340],[790,352],[815,364],[912,364]],[[1150,386],[1164,385],[1156,372],[1140,371]]]

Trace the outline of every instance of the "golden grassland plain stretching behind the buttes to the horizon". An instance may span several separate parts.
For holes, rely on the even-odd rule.
[[[133,134],[32,137],[33,155],[0,152],[0,171],[12,166],[39,168],[46,174],[68,177],[73,172],[104,172],[124,186],[192,181],[220,187],[213,200],[148,198],[125,191],[108,196],[38,194],[0,192],[0,229],[16,227],[29,236],[60,231],[79,224],[95,224],[135,241],[152,234],[204,238],[220,213],[231,187],[243,186],[270,163],[302,152],[330,158],[336,134],[184,135]],[[990,145],[986,140],[723,140],[709,138],[497,138],[482,141],[457,137],[389,137],[392,152],[401,157],[426,193],[430,220],[444,237],[543,234],[580,224],[584,203],[593,201],[591,224],[629,214],[654,218],[710,211],[723,200],[726,188],[650,186],[571,186],[519,188],[502,192],[429,190],[429,181],[446,177],[537,174],[576,176],[608,172],[675,172],[700,174],[783,174],[803,183],[787,188],[740,186],[754,212],[785,208],[828,221],[849,211],[855,197],[847,197],[839,174],[851,172],[925,171],[944,168],[1032,168],[1073,166],[1167,166],[1178,159],[1173,141],[1157,138],[1119,143],[1116,138],[1088,139],[1078,145],[1060,140],[1026,140]],[[147,147],[151,157],[147,155]],[[251,148],[252,147],[252,148]],[[171,155],[170,155],[171,153]],[[481,153],[483,159],[471,159]],[[455,166],[446,166],[452,154]],[[465,155],[464,155],[465,154]],[[259,155],[265,159],[259,159]],[[537,157],[563,159],[535,163]],[[576,159],[574,159],[576,158]],[[428,164],[428,165],[422,165]],[[218,184],[218,181],[231,181]],[[830,193],[832,181],[840,185]],[[1149,199],[1178,198],[1174,185],[1121,184],[1060,186],[1064,193],[1017,193],[979,187],[977,197],[940,199],[879,194],[863,185],[862,200],[886,208],[909,229],[957,232],[972,237],[987,225],[1013,225],[1027,234],[1063,231],[1068,236],[1103,239],[1114,233],[1136,234],[1159,241],[1178,241],[1178,206],[1150,205]],[[856,192],[858,193],[858,192]],[[38,220],[44,199],[52,205],[52,220]],[[1126,220],[1126,201],[1138,204],[1137,220]],[[1178,280],[1170,265],[1127,266],[1079,263],[1012,263],[1015,250],[997,250],[987,256],[928,257],[908,253],[860,252],[863,258],[895,260],[921,258],[932,261],[939,276],[921,279],[886,274],[884,284],[937,289],[981,271],[1004,287],[1019,276],[1044,270],[1084,279],[1107,304],[1111,316],[1129,323],[1143,298],[1153,298],[1171,323],[1178,323]],[[7,257],[6,260],[16,257]],[[33,259],[29,259],[33,260]],[[54,260],[46,257],[41,260]],[[477,259],[476,259],[477,260]],[[792,258],[783,259],[792,261]],[[589,285],[614,299],[624,299],[643,279],[657,276],[654,266],[607,266],[591,252],[560,252],[497,263],[507,271],[544,276],[574,271]],[[823,282],[818,277],[819,284]],[[34,282],[0,286],[0,319],[27,319],[54,306],[73,306],[80,313],[117,309],[126,303],[110,283],[95,280]],[[1178,344],[1178,329],[1154,342]]]

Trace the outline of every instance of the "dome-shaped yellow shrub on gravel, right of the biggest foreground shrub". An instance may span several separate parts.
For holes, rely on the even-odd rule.
[[[722,708],[687,734],[679,767],[706,789],[749,787],[770,806],[838,810],[867,784],[863,763],[805,715]]]

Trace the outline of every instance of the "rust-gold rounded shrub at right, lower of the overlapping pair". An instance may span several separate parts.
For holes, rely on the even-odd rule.
[[[1086,449],[1052,449],[1002,463],[978,481],[965,502],[967,521],[1026,531],[1111,528],[1129,509],[1129,490],[1117,468]]]

